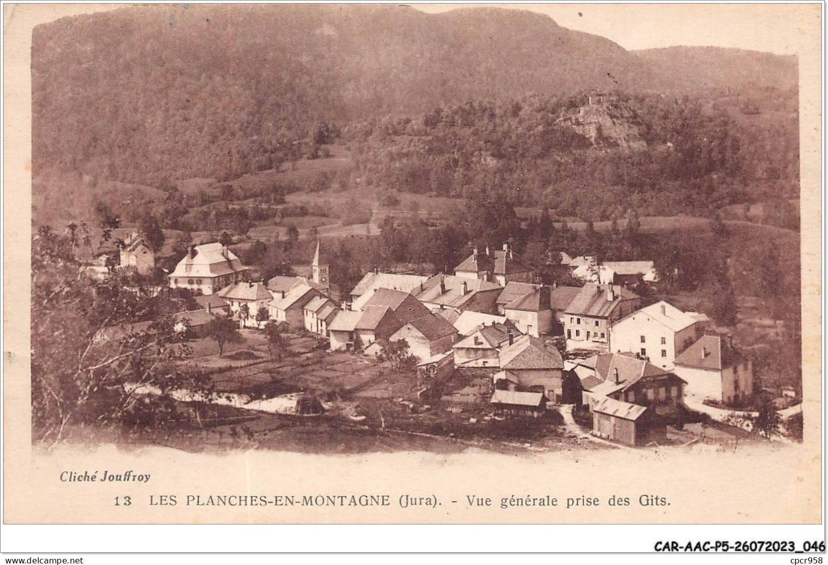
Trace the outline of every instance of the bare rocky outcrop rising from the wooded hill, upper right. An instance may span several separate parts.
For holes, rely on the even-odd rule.
[[[592,94],[586,104],[558,119],[589,139],[595,147],[639,150],[647,147],[638,128],[638,116],[610,94]]]

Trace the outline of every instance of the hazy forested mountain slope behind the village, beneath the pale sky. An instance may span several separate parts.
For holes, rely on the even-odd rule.
[[[389,116],[418,121],[436,108],[452,113],[451,107],[469,100],[498,106],[540,95],[552,97],[543,104],[558,112],[569,104],[567,96],[595,89],[675,94],[686,88],[696,95],[700,81],[694,74],[715,65],[717,54],[706,56],[703,65],[671,67],[670,53],[633,53],[537,13],[489,8],[426,14],[388,5],[152,6],[63,18],[37,27],[33,36],[35,202],[53,209],[77,203],[88,208],[87,201],[115,181],[146,191],[191,177],[235,178],[304,157],[354,123]],[[760,106],[776,97],[787,112],[790,96],[764,88],[782,70],[786,88],[796,75],[796,61],[762,56],[751,64],[753,75],[767,80],[746,85],[743,73],[734,88],[758,88]],[[729,88],[727,76],[712,86]],[[739,109],[743,102],[728,104]],[[638,107],[638,99],[628,103],[647,119],[649,110]],[[550,113],[532,109],[532,102],[519,104],[528,109],[518,112],[518,121]],[[681,111],[696,120],[692,104]],[[753,112],[753,106],[747,110]],[[757,111],[766,118],[781,110]],[[509,112],[496,112],[498,124],[511,128],[504,123]],[[464,129],[455,142],[466,144],[466,133],[491,125],[484,126],[480,116],[471,119],[474,132]],[[550,134],[547,128],[524,135],[522,124],[517,128],[503,134],[513,139],[494,142],[496,151],[534,142],[538,135],[543,137],[538,147],[521,151],[544,154],[521,160],[572,154],[580,147],[579,135],[571,132]],[[787,128],[795,124],[784,123]],[[429,133],[435,134],[452,143],[445,132]],[[656,142],[667,138],[664,132],[643,135],[656,135]],[[728,132],[727,138],[734,136]],[[787,131],[781,138],[787,139]],[[777,152],[775,141],[763,143],[766,153]],[[585,163],[592,164],[590,159]],[[616,155],[604,159],[604,167],[616,167],[613,159],[627,162]],[[646,165],[627,163],[623,168]],[[555,175],[577,165],[566,157]],[[525,174],[549,176],[548,171]],[[618,184],[598,174],[600,182]]]

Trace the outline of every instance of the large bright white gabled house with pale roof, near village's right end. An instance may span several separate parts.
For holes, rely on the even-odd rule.
[[[672,369],[676,355],[699,338],[707,322],[704,314],[683,312],[662,300],[616,321],[609,328],[609,343],[616,352],[635,351]]]

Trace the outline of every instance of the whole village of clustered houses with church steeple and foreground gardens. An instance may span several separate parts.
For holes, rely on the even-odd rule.
[[[118,247],[116,270],[156,268],[138,232]],[[634,292],[657,287],[650,261],[563,253],[556,268],[583,286],[543,285],[504,243],[471,248],[452,273],[377,269],[343,289],[324,240],[308,259],[296,276],[256,280],[217,241],[192,245],[166,276],[198,305],[172,316],[173,331],[220,393],[209,401],[219,443],[255,441],[276,417],[489,447],[721,447],[789,441],[785,421],[800,411],[794,389],[760,388],[705,313]],[[103,328],[101,339],[153,324]]]

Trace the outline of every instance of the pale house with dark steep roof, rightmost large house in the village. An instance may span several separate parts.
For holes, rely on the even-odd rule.
[[[753,363],[723,336],[701,336],[676,357],[676,374],[688,394],[721,403],[738,403],[753,394]]]

